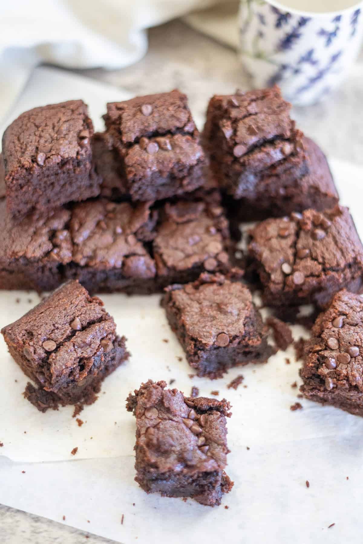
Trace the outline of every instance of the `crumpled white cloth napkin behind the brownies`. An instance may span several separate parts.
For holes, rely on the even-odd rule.
[[[227,0],[0,0],[0,119],[35,65],[122,68],[146,53],[147,28],[175,17],[234,45],[233,3],[231,12]]]

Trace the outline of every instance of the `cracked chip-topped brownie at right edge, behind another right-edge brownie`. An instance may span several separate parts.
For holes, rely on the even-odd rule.
[[[265,304],[324,307],[344,287],[362,292],[363,247],[348,208],[266,219],[250,234]]]

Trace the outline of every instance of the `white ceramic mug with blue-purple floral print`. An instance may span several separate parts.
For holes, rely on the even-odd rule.
[[[302,5],[310,11],[296,9]],[[343,81],[358,55],[363,2],[241,0],[239,29],[254,88],[277,83],[287,100],[309,106]]]

